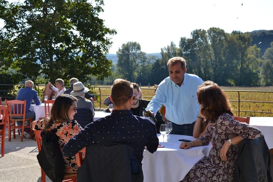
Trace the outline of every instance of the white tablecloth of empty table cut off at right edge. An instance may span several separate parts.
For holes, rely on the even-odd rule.
[[[273,117],[250,117],[249,124],[261,130],[269,149],[273,148]]]

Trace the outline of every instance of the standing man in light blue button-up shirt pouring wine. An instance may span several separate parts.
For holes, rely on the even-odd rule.
[[[196,95],[203,80],[186,73],[186,60],[182,57],[169,59],[167,66],[170,76],[158,85],[146,110],[156,113],[164,104],[165,118],[173,124],[172,134],[193,136],[195,121],[203,121]]]

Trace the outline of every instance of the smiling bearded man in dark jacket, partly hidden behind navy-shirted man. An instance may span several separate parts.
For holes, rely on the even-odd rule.
[[[146,108],[147,105],[150,103],[150,100],[144,100],[144,99],[140,99],[140,89],[139,89],[139,85],[137,83],[132,83],[133,85],[133,89],[134,89],[134,100],[132,103],[132,108],[130,109],[133,113],[133,115],[135,116],[143,116],[143,111],[142,108]],[[159,129],[160,129],[160,125],[161,124],[165,124],[165,121],[163,121],[163,118],[160,114],[159,111],[157,111],[157,114],[155,116],[155,118],[157,119],[157,133],[160,133]]]

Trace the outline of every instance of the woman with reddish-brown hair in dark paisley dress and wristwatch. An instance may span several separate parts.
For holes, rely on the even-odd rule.
[[[227,96],[217,84],[204,82],[198,87],[197,99],[202,115],[210,120],[207,132],[194,141],[181,143],[180,148],[208,145],[210,141],[213,147],[209,156],[195,164],[182,181],[233,181],[238,144],[244,138],[260,137],[261,131],[234,120]]]

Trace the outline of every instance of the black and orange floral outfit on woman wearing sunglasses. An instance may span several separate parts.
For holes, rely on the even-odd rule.
[[[43,130],[45,123],[45,119],[40,121],[33,121],[31,128],[32,130]],[[64,123],[53,123],[50,128],[51,132],[56,133],[60,147],[63,147],[70,138],[82,130],[82,127],[77,123],[76,120],[66,121]],[[65,173],[76,173],[78,168],[76,163],[76,156],[63,157],[63,159],[66,165]]]

